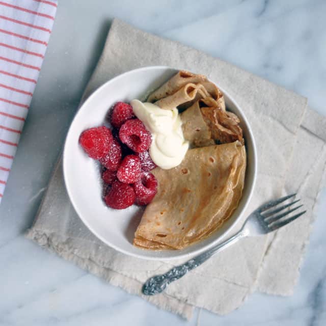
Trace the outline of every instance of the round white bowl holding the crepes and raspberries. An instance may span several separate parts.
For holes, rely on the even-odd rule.
[[[105,121],[108,109],[117,101],[144,100],[151,91],[164,84],[177,70],[169,67],[145,67],[119,75],[97,89],[80,107],[67,134],[63,170],[70,200],[85,225],[108,246],[127,255],[144,259],[173,259],[198,254],[229,233],[246,208],[254,188],[257,161],[256,147],[250,125],[235,101],[221,89],[228,110],[241,120],[248,153],[248,167],[244,190],[239,206],[231,218],[209,238],[184,250],[150,251],[132,246],[142,209],[131,206],[114,210],[105,206],[101,196],[100,169],[96,161],[89,158],[78,145],[80,133],[88,128],[100,126]],[[217,86],[218,80],[212,80]]]

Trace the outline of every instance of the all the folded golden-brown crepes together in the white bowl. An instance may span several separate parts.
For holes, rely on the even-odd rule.
[[[176,168],[152,171],[157,194],[144,211],[133,244],[183,249],[220,228],[238,206],[246,172],[240,121],[226,111],[223,94],[213,83],[184,70],[148,101],[165,110],[186,108],[180,118],[189,150]]]

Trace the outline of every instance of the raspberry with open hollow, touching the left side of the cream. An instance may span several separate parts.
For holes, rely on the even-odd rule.
[[[150,132],[139,119],[126,121],[120,128],[119,137],[122,143],[137,153],[147,151],[152,143]]]

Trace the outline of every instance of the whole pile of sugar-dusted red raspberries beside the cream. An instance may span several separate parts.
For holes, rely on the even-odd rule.
[[[157,192],[157,180],[149,172],[156,167],[148,153],[151,134],[128,103],[117,102],[109,119],[112,130],[90,128],[79,137],[84,151],[102,166],[104,201],[115,209],[147,205]]]

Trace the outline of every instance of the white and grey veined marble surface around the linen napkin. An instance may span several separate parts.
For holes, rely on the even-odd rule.
[[[291,297],[251,295],[227,316],[187,322],[106,284],[23,237],[30,227],[113,17],[222,58],[309,98],[326,115],[326,2],[59,2],[0,206],[0,325],[324,325],[326,188]]]

